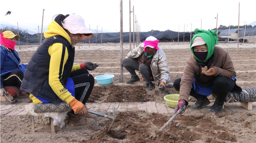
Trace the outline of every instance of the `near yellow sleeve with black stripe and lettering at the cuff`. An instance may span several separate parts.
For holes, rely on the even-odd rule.
[[[57,96],[69,104],[74,97],[66,88],[62,81],[64,65],[68,59],[68,50],[62,43],[54,43],[49,47],[50,55],[49,85]]]

